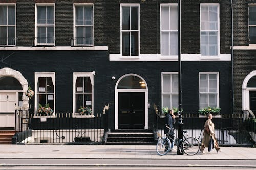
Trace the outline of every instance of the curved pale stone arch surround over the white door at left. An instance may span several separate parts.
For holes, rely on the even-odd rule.
[[[25,79],[25,77],[19,71],[7,67],[0,69],[0,77],[4,76],[14,77],[20,82],[23,92],[23,106],[29,108],[29,98],[25,95],[26,91],[29,89],[29,86],[28,81]]]

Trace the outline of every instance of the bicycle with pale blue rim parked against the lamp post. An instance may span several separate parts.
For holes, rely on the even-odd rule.
[[[170,127],[166,126],[169,129]],[[174,136],[174,139],[172,139],[168,134],[166,134],[166,137],[158,137],[158,142],[156,145],[156,150],[158,155],[165,155],[170,150],[170,141],[173,141],[177,145],[177,150],[180,150],[180,152],[184,151],[187,155],[195,155],[199,152],[200,149],[200,142],[195,137],[187,137],[186,133],[187,131],[182,131],[182,139],[178,139],[176,136]],[[185,134],[185,135],[184,135]],[[175,140],[176,138],[176,140]],[[181,145],[180,145],[181,144]],[[181,147],[179,147],[181,146]]]

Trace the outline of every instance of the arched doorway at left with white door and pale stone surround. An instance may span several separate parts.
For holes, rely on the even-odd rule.
[[[11,68],[0,69],[0,129],[14,129],[15,106],[28,107],[27,80]]]

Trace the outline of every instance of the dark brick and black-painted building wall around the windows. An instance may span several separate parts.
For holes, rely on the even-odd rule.
[[[238,1],[239,2],[239,1]],[[1,1],[0,5],[10,3]],[[147,115],[145,120],[148,129],[153,128],[155,118],[154,104],[160,110],[162,104],[162,72],[178,72],[176,59],[158,59],[161,51],[160,39],[160,4],[172,4],[177,1],[13,1],[16,4],[16,47],[27,47],[26,50],[16,47],[1,47],[0,56],[5,62],[0,69],[8,67],[19,71],[27,80],[28,85],[35,88],[35,72],[55,72],[55,111],[71,113],[73,110],[73,72],[92,72],[94,75],[94,114],[102,112],[104,105],[109,104],[110,114],[115,114],[117,101],[116,83],[123,75],[141,76],[148,90]],[[35,39],[35,3],[55,4],[55,46],[37,47]],[[93,4],[94,15],[94,47],[72,48],[74,28],[74,3]],[[140,20],[140,54],[146,59],[111,59],[120,54],[120,4],[138,4]],[[200,57],[200,3],[219,5],[220,54],[228,59],[201,59]],[[239,6],[239,5],[238,5]],[[240,7],[237,7],[240,10]],[[241,13],[241,12],[238,12]],[[246,13],[246,11],[244,12]],[[236,19],[234,19],[236,20]],[[238,26],[238,25],[237,25]],[[238,30],[239,28],[237,28]],[[245,37],[246,37],[246,33]],[[240,41],[235,41],[240,44]],[[242,43],[242,42],[241,42]],[[219,107],[221,114],[232,113],[232,61],[231,61],[231,2],[230,1],[181,1],[181,54],[182,57],[182,108],[185,113],[197,113],[199,109],[199,74],[200,72],[219,73]],[[66,47],[66,48],[65,48]],[[70,48],[69,48],[70,47]],[[69,48],[67,50],[67,48]],[[49,50],[47,50],[49,49]],[[77,50],[78,49],[78,50]],[[98,50],[97,50],[98,49]],[[236,55],[253,54],[247,51],[235,51]],[[9,57],[8,57],[9,56]],[[152,59],[154,58],[154,59]],[[235,57],[235,66],[240,57]],[[244,60],[243,60],[244,62]],[[255,62],[255,61],[254,61]],[[236,64],[237,63],[237,64]],[[251,64],[253,67],[253,64]],[[255,64],[254,64],[255,66]],[[239,69],[240,65],[235,68]],[[244,67],[243,67],[244,68]],[[253,68],[251,68],[253,70]],[[255,68],[254,68],[255,70]],[[235,76],[235,89],[238,91],[242,75]],[[112,77],[115,77],[113,80]],[[1,75],[0,75],[1,77]],[[237,92],[235,90],[235,92]],[[237,92],[239,94],[239,92]],[[239,98],[235,98],[239,103]],[[34,108],[34,98],[29,100]],[[238,108],[240,109],[240,108]],[[1,110],[0,110],[1,111]],[[34,112],[31,109],[31,112]],[[115,122],[115,117],[111,122]],[[112,127],[114,128],[114,127]]]

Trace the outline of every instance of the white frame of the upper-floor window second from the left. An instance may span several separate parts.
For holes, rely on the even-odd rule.
[[[38,31],[38,29],[37,29],[37,27],[38,27],[38,25],[37,25],[37,7],[38,6],[54,6],[54,37],[53,37],[53,42],[54,43],[38,43],[38,39],[37,39],[37,37],[38,37],[38,34],[37,34],[37,31]],[[46,45],[46,46],[55,46],[55,23],[56,23],[56,20],[55,20],[55,3],[36,3],[35,4],[35,39],[34,39],[34,45],[35,46],[37,46],[37,45]],[[47,26],[47,25],[46,25]]]

